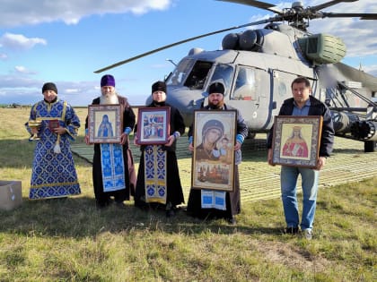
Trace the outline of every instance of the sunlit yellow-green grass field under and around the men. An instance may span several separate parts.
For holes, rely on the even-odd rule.
[[[184,211],[165,218],[132,201],[127,209],[99,211],[92,167],[81,158],[75,164],[82,195],[29,201],[28,115],[29,109],[0,109],[0,179],[21,180],[23,195],[21,208],[0,211],[2,282],[377,280],[376,176],[321,189],[311,241],[282,235],[279,199],[242,203],[237,226],[196,221]]]

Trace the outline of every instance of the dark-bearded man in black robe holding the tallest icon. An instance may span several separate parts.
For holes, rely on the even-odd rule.
[[[234,110],[235,108],[227,106],[224,103],[224,84],[221,82],[214,82],[208,88],[208,106],[202,107],[201,109],[206,110]],[[195,218],[225,218],[234,225],[236,220],[235,215],[241,212],[241,193],[240,193],[240,177],[238,174],[238,165],[241,164],[241,145],[246,136],[248,135],[248,127],[246,126],[241,113],[237,111],[237,135],[235,140],[234,150],[235,150],[235,167],[234,167],[234,190],[233,192],[224,192],[224,207],[222,209],[209,208],[207,209],[205,205],[202,205],[202,199],[205,193],[200,189],[192,189],[189,192],[189,202],[188,202],[188,213]],[[215,120],[210,120],[207,122],[206,126],[217,128],[222,135],[222,127]],[[209,126],[211,125],[211,126]],[[223,128],[224,131],[224,128]],[[193,126],[189,128],[189,150],[194,150],[193,146]],[[205,131],[203,131],[203,136]],[[222,136],[219,136],[217,141]],[[211,158],[210,158],[211,159]],[[212,158],[215,159],[215,158]],[[206,190],[208,193],[209,190]],[[215,191],[213,191],[215,193]],[[217,194],[220,192],[217,191]]]

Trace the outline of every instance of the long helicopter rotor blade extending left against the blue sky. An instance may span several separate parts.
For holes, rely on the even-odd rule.
[[[167,49],[167,48],[170,48],[170,47],[174,47],[174,46],[177,46],[177,45],[180,45],[180,44],[183,44],[183,43],[186,43],[186,42],[189,42],[189,41],[193,41],[193,40],[196,40],[198,38],[206,38],[208,36],[211,36],[211,35],[215,35],[217,33],[222,33],[222,32],[225,32],[225,31],[229,31],[229,30],[237,30],[237,29],[241,29],[241,28],[245,28],[245,27],[250,27],[252,25],[259,25],[259,24],[262,24],[262,23],[267,23],[267,22],[272,22],[272,21],[281,21],[281,17],[280,16],[276,16],[276,17],[271,17],[269,19],[266,19],[266,20],[261,20],[261,21],[253,21],[253,22],[250,22],[250,23],[246,23],[246,24],[242,24],[242,25],[238,25],[238,26],[234,26],[232,28],[228,28],[228,29],[224,29],[224,30],[216,30],[216,31],[213,31],[213,32],[209,32],[209,33],[206,33],[206,34],[202,34],[202,35],[199,35],[199,36],[196,36],[196,37],[193,37],[193,38],[187,38],[187,39],[184,39],[184,40],[180,40],[178,42],[175,42],[175,43],[172,43],[172,44],[169,44],[169,45],[165,45],[165,46],[162,46],[162,47],[159,47],[157,49],[153,49],[151,51],[148,51],[148,52],[145,52],[143,54],[140,54],[140,55],[137,55],[137,56],[133,56],[131,58],[128,58],[127,60],[124,60],[124,61],[120,61],[118,63],[115,63],[115,64],[110,64],[108,66],[105,66],[104,68],[101,68],[97,71],[94,71],[94,73],[102,73],[104,71],[107,71],[107,70],[110,70],[116,66],[119,66],[121,64],[127,64],[129,62],[132,62],[132,61],[135,61],[139,58],[142,58],[144,56],[148,56],[148,55],[151,55],[153,53],[157,53],[157,52],[160,52],[164,49]]]

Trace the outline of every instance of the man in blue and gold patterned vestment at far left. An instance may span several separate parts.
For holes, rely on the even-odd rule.
[[[81,193],[70,141],[75,141],[79,117],[57,97],[57,86],[42,87],[43,100],[31,107],[26,129],[36,136],[32,162],[30,199],[62,198]],[[32,126],[38,122],[39,127]],[[32,140],[32,138],[31,138]]]

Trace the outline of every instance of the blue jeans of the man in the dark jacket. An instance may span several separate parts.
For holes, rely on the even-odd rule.
[[[300,223],[296,184],[298,175],[302,178],[302,221],[301,229],[313,227],[317,202],[319,170],[306,167],[282,166],[280,184],[287,227],[298,227]]]

